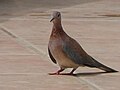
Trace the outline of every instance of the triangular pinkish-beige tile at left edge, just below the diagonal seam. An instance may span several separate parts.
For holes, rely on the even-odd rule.
[[[6,34],[0,29],[0,55],[29,55],[34,54],[34,52],[23,45],[19,44],[16,39],[12,36]]]

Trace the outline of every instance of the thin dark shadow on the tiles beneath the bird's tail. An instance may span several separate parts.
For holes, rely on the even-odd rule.
[[[100,74],[105,74],[108,72],[88,72],[88,73],[76,73],[73,76],[80,77],[80,76],[96,76]]]

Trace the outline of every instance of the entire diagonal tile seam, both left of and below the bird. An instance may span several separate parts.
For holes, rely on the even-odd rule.
[[[38,49],[37,47],[35,47],[34,45],[32,45],[30,42],[28,42],[27,40],[19,37],[18,35],[16,35],[15,33],[11,32],[10,30],[8,30],[7,28],[0,26],[0,29],[5,32],[6,34],[8,34],[9,36],[11,36],[12,38],[16,39],[16,41],[18,43],[20,43],[21,45],[23,45],[26,48],[32,49],[34,52],[36,52],[37,54],[42,54],[42,58],[46,58],[46,54],[43,50]],[[47,56],[48,57],[48,56]],[[88,86],[91,86],[92,88],[94,88],[95,90],[103,90],[101,88],[99,88],[97,85],[90,83],[88,80],[83,79],[83,78],[77,78],[79,80],[82,80],[84,83],[86,83]]]

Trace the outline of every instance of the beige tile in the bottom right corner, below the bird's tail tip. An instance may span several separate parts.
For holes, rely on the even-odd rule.
[[[104,74],[104,75],[84,77],[84,79],[89,81],[90,83],[95,83],[96,86],[104,90],[119,90],[120,88],[119,75],[120,73]]]

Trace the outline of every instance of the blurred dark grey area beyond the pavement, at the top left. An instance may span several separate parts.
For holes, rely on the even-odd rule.
[[[99,0],[0,0],[0,22],[24,15],[34,9],[49,10],[65,8]]]

